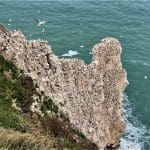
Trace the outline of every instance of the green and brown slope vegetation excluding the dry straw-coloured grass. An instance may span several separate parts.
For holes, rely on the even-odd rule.
[[[45,114],[43,117],[30,111],[34,101],[33,95],[39,96],[39,99],[44,96],[41,106],[41,111]],[[21,108],[20,112],[12,107],[12,100],[15,100],[17,106]],[[47,111],[52,115],[48,115]],[[27,128],[32,131],[39,123],[37,132],[41,131],[42,136],[54,137],[59,149],[97,149],[96,145],[88,141],[82,133],[71,128],[68,118],[63,113],[59,114],[58,106],[51,98],[36,91],[30,77],[24,76],[13,63],[0,55],[0,127],[27,132]]]

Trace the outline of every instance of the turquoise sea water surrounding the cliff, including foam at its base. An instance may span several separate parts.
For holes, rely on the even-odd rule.
[[[35,18],[48,21],[38,27]],[[119,39],[129,86],[124,106],[127,128],[121,150],[150,150],[149,0],[0,0],[0,22],[28,39],[45,39],[58,56],[77,51],[90,63],[102,38]]]

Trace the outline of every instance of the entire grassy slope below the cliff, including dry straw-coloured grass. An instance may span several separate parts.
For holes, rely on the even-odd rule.
[[[8,149],[97,149],[84,135],[73,130],[67,118],[58,119],[58,107],[53,101],[41,106],[41,117],[30,112],[36,92],[32,79],[25,77],[10,61],[0,55],[0,148]],[[16,101],[21,111],[12,107]],[[53,112],[49,116],[46,111]],[[11,129],[11,130],[10,130]]]

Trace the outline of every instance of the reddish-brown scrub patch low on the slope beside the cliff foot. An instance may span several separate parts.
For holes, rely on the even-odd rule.
[[[42,128],[49,136],[54,136],[58,141],[59,149],[67,148],[70,150],[97,150],[97,146],[90,142],[77,130],[74,130],[68,122],[57,118],[56,116],[39,117]]]

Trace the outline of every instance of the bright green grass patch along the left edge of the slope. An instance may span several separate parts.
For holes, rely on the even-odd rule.
[[[18,100],[16,93],[24,90],[19,87],[18,79],[18,69],[10,61],[0,56],[0,126],[22,130],[25,126],[25,120],[12,107],[12,100]]]

